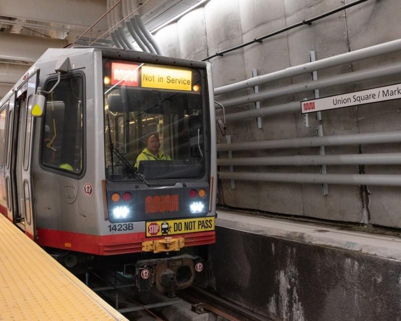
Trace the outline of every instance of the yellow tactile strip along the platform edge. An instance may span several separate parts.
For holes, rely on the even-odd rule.
[[[0,215],[0,320],[127,320]]]

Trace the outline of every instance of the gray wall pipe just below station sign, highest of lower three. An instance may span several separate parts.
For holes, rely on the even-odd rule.
[[[275,148],[300,148],[335,145],[378,144],[401,142],[401,131],[373,132],[352,135],[287,138],[260,141],[246,141],[232,144],[217,145],[218,151],[256,150]]]

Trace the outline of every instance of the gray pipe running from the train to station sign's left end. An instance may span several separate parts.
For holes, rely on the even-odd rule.
[[[256,117],[266,117],[268,115],[284,114],[289,112],[300,111],[301,102],[294,101],[287,104],[281,104],[276,106],[255,108],[251,110],[245,110],[240,112],[233,112],[231,114],[226,114],[226,121],[233,120],[244,120]]]

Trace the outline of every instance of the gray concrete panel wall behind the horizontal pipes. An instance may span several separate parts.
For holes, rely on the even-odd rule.
[[[351,0],[345,0],[350,3]],[[177,23],[160,30],[156,39],[169,56],[202,59],[219,50],[252,40],[291,24],[315,17],[342,6],[341,0],[210,0],[205,7],[194,10]],[[215,87],[234,83],[252,76],[252,69],[265,74],[309,61],[309,51],[314,50],[317,59],[341,54],[350,50],[369,47],[401,37],[397,0],[370,0],[354,8],[339,12],[286,33],[274,36],[261,44],[225,54],[210,60],[214,70]],[[319,71],[318,77],[358,71],[397,61],[400,53],[368,59]],[[375,86],[399,82],[399,75],[364,82],[345,84],[320,91],[320,96],[352,92]],[[271,82],[260,90],[285,86],[309,80],[309,75]],[[219,96],[224,100],[250,90],[242,90]],[[262,103],[263,106],[312,98],[305,92],[284,96]],[[322,113],[325,135],[397,130],[401,120],[398,101],[382,102],[366,106],[343,108]],[[247,110],[253,105],[232,107],[227,112]],[[233,142],[316,135],[317,122],[310,118],[305,128],[299,113],[265,117],[263,128],[256,127],[254,119],[229,123],[228,134]],[[222,136],[218,143],[226,142]],[[354,154],[358,152],[398,152],[400,144],[333,146],[326,147],[327,154]],[[234,152],[240,156],[273,156],[317,154],[317,148],[280,149]],[[220,157],[227,157],[221,153]],[[226,171],[227,168],[222,168]],[[241,172],[320,173],[315,167],[237,167]],[[329,174],[400,174],[398,166],[328,166]],[[389,227],[401,227],[397,219],[401,191],[389,187],[358,187],[329,185],[329,194],[322,196],[320,185],[236,182],[231,189],[229,181],[220,182],[221,204],[289,215],[315,217],[327,220],[371,223]]]

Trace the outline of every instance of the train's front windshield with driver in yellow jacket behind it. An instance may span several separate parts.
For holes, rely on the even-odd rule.
[[[205,175],[205,110],[196,69],[104,63],[105,165],[112,181]]]

